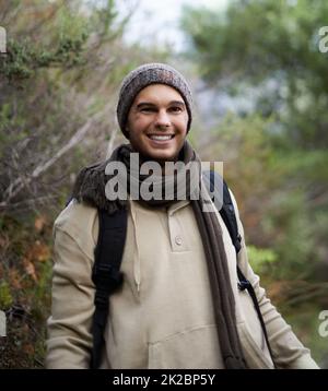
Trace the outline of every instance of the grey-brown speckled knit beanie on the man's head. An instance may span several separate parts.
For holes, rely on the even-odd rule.
[[[189,131],[192,119],[192,97],[188,83],[174,68],[165,63],[153,62],[138,67],[121,82],[116,112],[120,130],[127,139],[129,139],[126,130],[127,119],[136,96],[148,85],[157,83],[174,87],[184,98],[189,116],[187,126],[187,131]]]

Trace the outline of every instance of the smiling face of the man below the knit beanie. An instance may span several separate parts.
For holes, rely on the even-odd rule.
[[[132,147],[159,163],[175,161],[187,135],[188,111],[171,86],[152,84],[141,90],[127,121]]]

